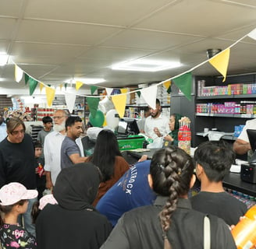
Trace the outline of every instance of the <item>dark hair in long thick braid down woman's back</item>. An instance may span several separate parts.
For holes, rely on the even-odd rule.
[[[151,160],[150,174],[153,190],[168,197],[159,219],[162,225],[165,248],[171,248],[166,232],[171,226],[172,213],[176,210],[180,196],[187,195],[194,171],[191,157],[175,146],[159,149]]]

